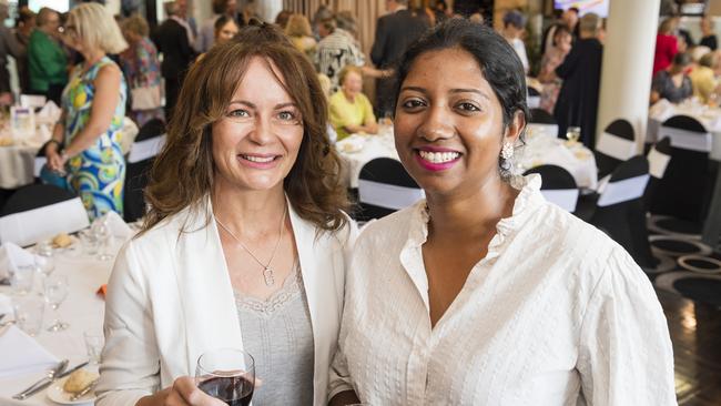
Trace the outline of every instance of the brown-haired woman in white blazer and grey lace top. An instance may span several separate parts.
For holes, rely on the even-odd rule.
[[[190,376],[217,348],[255,357],[255,405],[326,404],[355,235],[327,105],[276,29],[240,38],[181,91],[109,283],[98,405],[210,404]]]

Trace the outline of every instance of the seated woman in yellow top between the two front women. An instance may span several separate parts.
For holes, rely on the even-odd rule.
[[[347,65],[338,77],[341,90],[331,97],[331,124],[338,133],[338,141],[355,132],[378,132],[373,105],[363,94],[360,68]]]

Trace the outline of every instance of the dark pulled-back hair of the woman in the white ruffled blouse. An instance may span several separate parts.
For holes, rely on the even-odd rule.
[[[398,104],[400,87],[418,57],[451,48],[468,52],[478,62],[484,78],[500,102],[504,129],[518,111],[528,120],[530,114],[526,101],[526,73],[520,58],[492,28],[465,19],[446,20],[408,47],[396,69],[394,105]],[[525,133],[519,139],[524,144]],[[510,174],[509,163],[500,159],[499,165],[501,175],[507,179]]]

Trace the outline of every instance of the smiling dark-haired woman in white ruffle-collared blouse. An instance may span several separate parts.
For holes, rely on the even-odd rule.
[[[512,173],[524,68],[487,27],[441,23],[397,69],[395,140],[426,200],[353,250],[332,405],[674,405],[648,277]]]

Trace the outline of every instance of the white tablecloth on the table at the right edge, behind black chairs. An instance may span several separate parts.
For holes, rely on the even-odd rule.
[[[710,108],[693,100],[681,104],[671,104],[668,100],[661,99],[649,109],[649,122],[646,142],[658,141],[658,132],[666,120],[673,115],[689,115],[697,119],[711,138],[711,159],[721,161],[721,108]]]

